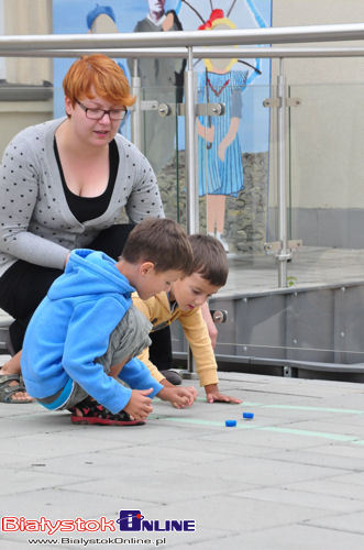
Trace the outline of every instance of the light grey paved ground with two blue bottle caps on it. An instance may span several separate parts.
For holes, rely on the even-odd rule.
[[[209,405],[200,389],[190,409],[155,399],[128,428],[0,404],[1,550],[362,550],[363,386],[221,373],[220,388],[243,404]],[[120,530],[121,510],[141,513],[140,530]],[[42,517],[54,535],[25,530]]]

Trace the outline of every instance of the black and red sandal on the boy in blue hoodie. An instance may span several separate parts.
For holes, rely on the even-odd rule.
[[[145,424],[143,420],[131,420],[124,410],[113,415],[91,397],[86,397],[76,407],[68,410],[71,413],[70,421],[73,424],[100,424],[103,426],[141,426]],[[81,416],[77,415],[77,410],[81,413]]]

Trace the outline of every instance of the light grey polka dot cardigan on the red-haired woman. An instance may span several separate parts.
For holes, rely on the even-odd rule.
[[[87,248],[118,223],[125,209],[137,223],[164,216],[154,172],[145,156],[118,134],[119,168],[110,204],[80,223],[68,208],[53,150],[65,119],[26,128],[10,142],[0,169],[0,276],[16,261],[63,270],[69,250]]]

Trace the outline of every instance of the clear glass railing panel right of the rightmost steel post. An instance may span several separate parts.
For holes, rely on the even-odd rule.
[[[363,85],[290,86],[300,102],[289,114],[289,230],[305,246],[364,249],[363,91]]]

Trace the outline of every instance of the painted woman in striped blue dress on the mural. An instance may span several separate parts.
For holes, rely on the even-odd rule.
[[[213,10],[200,30],[235,29],[222,10]],[[197,122],[199,158],[199,195],[207,195],[207,231],[214,234],[227,252],[224,238],[225,199],[238,197],[244,188],[242,147],[239,124],[242,118],[242,94],[247,70],[231,70],[238,59],[203,59],[206,72],[199,74],[198,102],[224,103],[221,117],[200,117]]]

